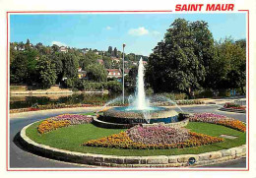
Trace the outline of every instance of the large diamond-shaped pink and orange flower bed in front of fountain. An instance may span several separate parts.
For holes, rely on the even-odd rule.
[[[83,146],[100,148],[191,148],[224,142],[223,138],[189,132],[184,128],[135,126],[126,132],[91,140]]]

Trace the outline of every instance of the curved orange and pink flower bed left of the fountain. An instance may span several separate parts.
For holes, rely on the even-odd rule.
[[[40,134],[45,134],[52,130],[70,125],[88,124],[93,121],[93,117],[79,114],[63,114],[56,117],[48,118],[42,121],[37,127]]]

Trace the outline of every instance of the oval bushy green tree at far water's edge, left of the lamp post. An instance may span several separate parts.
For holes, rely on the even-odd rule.
[[[55,84],[57,79],[55,66],[48,56],[43,55],[39,58],[36,70],[39,74],[39,84],[43,89],[48,89]]]

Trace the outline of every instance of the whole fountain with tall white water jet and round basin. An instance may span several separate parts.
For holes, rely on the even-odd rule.
[[[95,119],[95,123],[98,126],[107,128],[130,128],[137,124],[171,124],[185,119],[183,114],[179,114],[171,108],[154,106],[150,104],[151,99],[147,98],[145,93],[144,70],[145,68],[141,58],[139,61],[136,91],[134,96],[130,95],[128,97],[129,106],[113,107],[108,110],[104,110],[103,115]],[[152,100],[156,100],[156,98],[157,100],[159,99],[162,101],[163,97],[158,96],[152,98]],[[108,103],[113,103],[113,101],[118,99],[120,99],[120,97],[109,101]],[[165,99],[165,101],[168,100],[169,99],[167,98]]]

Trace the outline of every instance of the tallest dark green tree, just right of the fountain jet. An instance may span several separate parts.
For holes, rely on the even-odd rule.
[[[199,35],[195,23],[176,19],[171,24],[149,57],[146,75],[155,91],[191,94],[192,90],[201,88],[206,71],[200,57],[204,45],[197,42],[198,36],[202,34]]]

